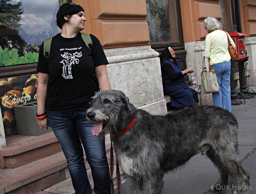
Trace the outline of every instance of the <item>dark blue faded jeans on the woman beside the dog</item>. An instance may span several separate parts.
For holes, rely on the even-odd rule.
[[[87,103],[77,108],[47,110],[47,118],[67,159],[67,167],[76,194],[92,193],[84,165],[83,147],[92,171],[95,194],[111,194],[105,139],[102,140],[100,136],[92,134],[94,123],[87,121],[88,108],[90,106]]]

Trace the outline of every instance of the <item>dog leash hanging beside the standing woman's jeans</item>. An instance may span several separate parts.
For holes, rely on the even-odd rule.
[[[114,184],[113,184],[113,160],[114,160],[114,154],[113,154],[113,145],[112,145],[112,138],[110,135],[111,140],[111,148],[110,148],[110,175],[111,175],[111,194],[114,194]],[[117,179],[117,192],[118,194],[121,194],[121,177],[120,177],[120,170],[119,170],[119,163],[116,160],[116,179]]]

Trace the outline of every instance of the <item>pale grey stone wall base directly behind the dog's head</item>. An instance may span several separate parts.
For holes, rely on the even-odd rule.
[[[105,49],[111,88],[121,90],[136,107],[166,114],[158,52],[151,46]],[[154,108],[150,108],[150,106]]]

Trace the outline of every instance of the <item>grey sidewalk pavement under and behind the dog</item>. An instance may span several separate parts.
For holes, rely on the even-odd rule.
[[[256,86],[250,88],[256,92]],[[239,123],[239,155],[242,166],[250,174],[250,194],[256,194],[256,98],[246,99],[245,104],[232,106],[232,113]],[[165,174],[162,193],[214,194],[209,189],[218,182],[218,178],[218,169],[212,162],[197,154],[184,167]],[[131,194],[128,179],[122,181],[121,188],[122,194]],[[231,193],[231,189],[226,192]]]

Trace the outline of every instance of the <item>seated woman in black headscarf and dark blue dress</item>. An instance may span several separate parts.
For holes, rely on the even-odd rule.
[[[195,103],[199,101],[198,93],[189,88],[184,79],[187,73],[192,73],[194,70],[187,68],[182,71],[180,62],[175,57],[175,52],[171,47],[165,48],[160,56],[163,94],[171,97],[172,107],[195,106]]]

